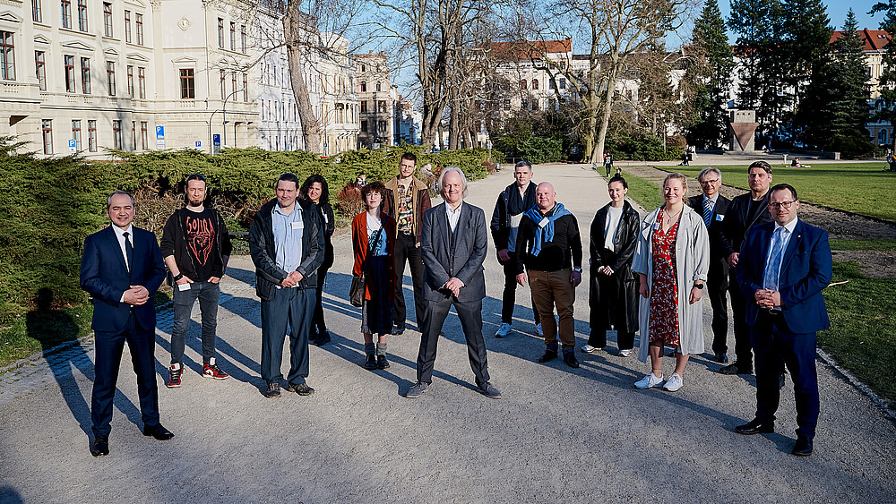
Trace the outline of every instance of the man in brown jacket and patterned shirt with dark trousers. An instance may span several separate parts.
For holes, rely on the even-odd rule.
[[[393,295],[395,326],[391,332],[395,336],[404,333],[408,311],[404,302],[404,267],[410,266],[410,281],[414,291],[414,316],[419,329],[423,318],[423,259],[420,257],[420,233],[423,231],[423,213],[433,206],[429,197],[429,187],[414,176],[417,156],[406,152],[401,156],[399,174],[384,185],[383,213],[392,216],[396,222],[393,236],[395,252],[390,253],[395,261],[395,295]]]

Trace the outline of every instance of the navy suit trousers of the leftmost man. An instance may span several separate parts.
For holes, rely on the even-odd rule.
[[[159,388],[155,369],[155,328],[143,329],[134,317],[127,319],[127,327],[119,333],[96,331],[96,379],[90,398],[90,417],[94,436],[108,436],[112,430],[112,401],[115,399],[118,369],[127,341],[131,362],[137,374],[137,395],[140,396],[140,412],[143,426],[159,425]]]

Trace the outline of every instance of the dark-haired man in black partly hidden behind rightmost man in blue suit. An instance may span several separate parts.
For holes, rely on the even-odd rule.
[[[728,213],[722,220],[721,233],[710,236],[715,240],[716,250],[721,251],[728,261],[728,292],[731,295],[731,315],[734,317],[734,363],[719,369],[722,374],[752,374],[753,346],[750,343],[750,328],[746,325],[745,311],[747,299],[737,286],[737,262],[740,249],[750,228],[771,222],[769,213],[769,187],[771,186],[771,165],[765,161],[754,161],[748,170],[750,192],[731,200]]]

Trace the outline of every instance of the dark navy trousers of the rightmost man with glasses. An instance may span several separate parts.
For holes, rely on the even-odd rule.
[[[818,423],[818,374],[815,370],[815,333],[794,334],[784,315],[760,310],[753,325],[756,351],[756,418],[773,422],[780,403],[779,376],[785,364],[793,377],[799,433],[815,436]]]

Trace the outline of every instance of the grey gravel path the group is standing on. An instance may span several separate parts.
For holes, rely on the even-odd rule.
[[[558,201],[582,229],[607,201],[602,180],[578,165],[536,167],[535,174],[556,184]],[[505,170],[471,184],[468,201],[490,214],[511,182]],[[719,364],[707,355],[694,356],[676,393],[634,389],[649,366],[612,351],[580,355],[578,370],[559,360],[536,363],[544,346],[532,334],[525,294],[517,302],[517,332],[495,339],[503,276],[494,248],[486,261],[484,332],[493,382],[504,398],[487,399],[473,389],[460,323],[452,317],[433,389],[406,399],[419,333],[390,339],[390,370],[361,367],[359,311],[345,300],[349,238],[342,234],[335,243],[340,273],[331,274],[325,303],[336,337],[311,349],[313,397],[261,395],[254,272],[247,258],[235,258],[222,282],[218,345],[221,367],[232,378],[200,378],[194,318],[184,386],[165,389],[159,377],[162,423],[174,440],[140,434],[125,355],[112,453],[90,457],[90,341],[0,377],[0,502],[896,500],[896,426],[828,366],[818,363],[822,415],[815,453],[793,457],[789,382],[779,433],[746,437],[733,428],[753,417],[754,380],[716,373]],[[585,286],[578,295],[582,345]],[[170,316],[159,315],[160,375],[168,363]]]

